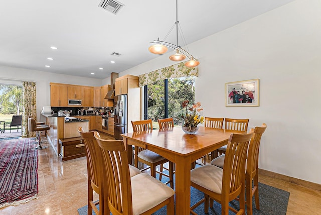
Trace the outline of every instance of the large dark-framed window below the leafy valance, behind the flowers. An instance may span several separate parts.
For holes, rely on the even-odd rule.
[[[182,102],[195,100],[195,77],[179,77],[158,80],[145,85],[144,118],[153,121],[153,128],[158,129],[157,119],[173,117],[175,125],[182,125]],[[147,93],[146,93],[147,92]]]

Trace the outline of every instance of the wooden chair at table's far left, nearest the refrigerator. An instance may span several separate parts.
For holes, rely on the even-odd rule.
[[[131,121],[131,125],[133,128],[133,132],[142,132],[142,131],[150,131],[152,130],[152,121],[149,120],[140,120],[140,121]],[[134,164],[135,167],[138,167],[138,162],[148,165],[148,167],[141,169],[140,171],[145,171],[150,168],[150,175],[152,177],[156,177],[156,172],[159,174],[159,180],[162,180],[162,175],[167,176],[170,180],[167,183],[170,183],[171,187],[174,188],[174,164],[170,162],[168,159],[158,155],[155,152],[152,152],[148,149],[143,149],[141,147],[134,147]],[[165,174],[163,172],[163,164],[169,162],[169,174]],[[159,171],[156,171],[156,167],[159,167]]]

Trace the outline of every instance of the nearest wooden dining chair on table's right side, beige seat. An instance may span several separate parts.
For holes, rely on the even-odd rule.
[[[204,212],[208,213],[210,198],[221,203],[221,214],[229,214],[229,209],[237,214],[245,214],[245,160],[252,136],[253,132],[231,134],[223,169],[207,164],[191,170],[191,186],[204,193],[204,198],[191,207],[192,214],[196,214],[193,209],[203,202]],[[238,211],[229,207],[229,202],[237,196],[240,196]]]

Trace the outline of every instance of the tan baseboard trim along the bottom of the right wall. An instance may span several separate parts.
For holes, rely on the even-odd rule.
[[[310,181],[305,181],[305,180],[298,179],[298,178],[293,178],[293,177],[290,177],[290,176],[282,175],[282,174],[271,172],[271,171],[264,170],[264,169],[259,169],[258,172],[261,175],[269,176],[269,177],[272,177],[272,178],[277,178],[277,179],[280,179],[280,180],[283,180],[283,181],[286,181],[286,182],[290,182],[290,183],[293,183],[293,184],[297,184],[297,185],[301,185],[301,186],[304,186],[304,187],[307,187],[307,188],[311,188],[311,189],[315,189],[315,190],[321,191],[321,184],[313,183],[313,182],[310,182]]]

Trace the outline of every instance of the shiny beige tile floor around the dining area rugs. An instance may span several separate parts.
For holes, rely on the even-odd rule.
[[[101,134],[103,138],[109,136]],[[44,143],[43,145],[48,145]],[[0,214],[75,214],[87,204],[86,158],[57,159],[51,147],[39,151],[38,199],[0,209]],[[259,181],[290,192],[287,214],[320,214],[321,192],[268,176]],[[95,196],[97,198],[97,195]]]

